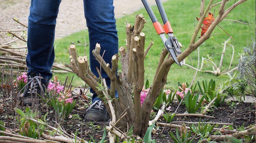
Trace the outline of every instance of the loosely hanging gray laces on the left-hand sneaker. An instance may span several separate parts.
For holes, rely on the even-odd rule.
[[[36,87],[38,87],[38,86],[41,88],[42,92],[44,91],[43,90],[43,86],[45,86],[45,85],[42,86],[42,84],[40,82],[40,79],[44,79],[44,77],[42,77],[42,76],[34,76],[33,78],[31,78],[31,76],[29,76],[28,79],[30,81],[20,90],[20,92],[23,89],[25,89],[26,87],[28,87],[28,86],[29,86],[28,93],[37,93]],[[19,92],[19,95],[20,95],[20,92]],[[20,96],[23,96],[23,93]]]

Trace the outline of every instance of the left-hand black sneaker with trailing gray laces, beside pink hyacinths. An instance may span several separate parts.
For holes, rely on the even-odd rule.
[[[42,80],[44,77],[38,76],[36,73],[31,73],[28,75],[28,83],[23,87],[24,91],[20,95],[23,96],[23,106],[32,106],[33,100],[36,97],[36,93],[40,96],[44,95],[45,89],[48,86],[48,82],[43,82],[40,79]]]

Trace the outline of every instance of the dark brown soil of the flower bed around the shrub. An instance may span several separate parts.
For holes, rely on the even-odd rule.
[[[178,101],[173,101],[171,106],[171,112],[174,112],[178,106]],[[71,116],[68,116],[65,121],[62,123],[63,129],[68,133],[75,133],[77,131],[77,135],[86,140],[90,140],[90,135],[92,138],[99,142],[102,139],[103,131],[105,125],[93,125],[92,123],[84,122],[84,115],[86,114],[86,108],[89,107],[88,102],[79,100],[74,107],[74,110],[71,112]],[[0,120],[4,120],[5,126],[14,130],[14,126],[17,126],[17,123],[14,121],[13,113],[14,110],[10,111],[9,108],[2,107],[2,112],[0,111]],[[13,108],[14,109],[14,108]],[[22,108],[25,109],[24,107]],[[39,105],[39,116],[42,116],[41,105]],[[158,110],[154,110],[157,113]],[[186,111],[185,105],[182,105],[178,109],[178,113],[184,113]],[[153,113],[152,115],[155,115]],[[44,113],[43,113],[44,115]],[[236,127],[244,125],[244,127],[249,126],[250,124],[255,123],[255,103],[245,103],[245,102],[236,102],[234,107],[229,107],[227,103],[220,105],[220,107],[213,108],[212,112],[208,115],[214,116],[215,118],[201,118],[201,121],[204,122],[219,122],[219,123],[234,123],[234,129]],[[56,121],[55,119],[55,111],[49,110],[49,114],[47,116],[48,123],[54,126],[56,123],[52,121]],[[153,118],[153,117],[152,117]],[[186,122],[198,122],[200,120],[199,117],[175,117],[172,122],[176,121],[186,121]],[[163,118],[160,118],[158,122],[165,123]],[[16,124],[14,124],[16,123]],[[177,123],[179,124],[179,123]],[[180,123],[181,125],[181,123]],[[188,126],[188,124],[187,124]],[[219,125],[218,128],[221,128],[222,125]],[[169,132],[172,131],[175,134],[174,128],[165,128],[158,126],[155,127],[158,130],[155,134],[152,134],[152,139],[156,139],[157,143],[173,143],[173,139],[169,135]],[[17,127],[16,127],[17,129]],[[162,132],[163,130],[163,132]],[[213,131],[214,132],[214,131]],[[212,134],[212,133],[211,133]],[[105,139],[107,139],[106,137]],[[193,141],[197,142],[197,140]]]

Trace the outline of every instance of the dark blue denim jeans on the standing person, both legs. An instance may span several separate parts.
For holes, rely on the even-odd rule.
[[[52,78],[52,64],[54,61],[54,34],[56,18],[61,0],[31,0],[30,14],[28,16],[28,75],[41,74],[46,80]],[[111,64],[111,57],[118,53],[118,37],[116,20],[114,18],[113,0],[84,0],[84,15],[89,31],[90,40],[90,67],[99,77],[96,67],[100,64],[92,55],[96,43],[100,43],[101,55],[104,50],[104,60]],[[67,45],[68,46],[68,45]],[[68,50],[68,49],[67,49]],[[102,77],[108,86],[110,79],[105,71]],[[92,102],[100,100],[93,90]]]

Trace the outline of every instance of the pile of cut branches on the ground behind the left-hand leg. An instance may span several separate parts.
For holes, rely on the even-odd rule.
[[[0,30],[0,70],[3,70],[3,67],[8,69],[12,67],[12,72],[18,74],[19,70],[27,69],[26,57],[28,54],[28,47],[26,36],[28,27],[16,19],[13,20],[22,25],[24,29],[6,31]],[[63,65],[54,62],[52,72],[66,73],[72,71],[65,68]]]

